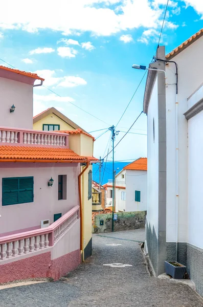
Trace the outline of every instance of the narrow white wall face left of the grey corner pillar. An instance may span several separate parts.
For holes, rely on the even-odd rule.
[[[154,120],[154,138],[153,138]],[[147,114],[147,220],[158,233],[159,209],[159,140],[157,79],[154,83]]]

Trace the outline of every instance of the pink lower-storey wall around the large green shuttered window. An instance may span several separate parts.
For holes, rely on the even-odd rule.
[[[8,167],[4,167],[8,165]],[[25,163],[26,164],[26,163]],[[44,164],[44,167],[42,166]],[[15,167],[12,167],[15,166]],[[37,227],[40,221],[50,219],[53,223],[55,213],[66,213],[74,206],[79,205],[78,163],[0,163],[0,233],[14,232],[16,230]],[[58,175],[67,175],[67,199],[58,200]],[[6,177],[34,177],[34,202],[2,206],[2,178]],[[54,179],[52,187],[48,187],[50,178]]]

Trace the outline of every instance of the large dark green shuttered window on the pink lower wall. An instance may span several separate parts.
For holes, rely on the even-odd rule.
[[[2,178],[2,206],[33,202],[33,177]]]

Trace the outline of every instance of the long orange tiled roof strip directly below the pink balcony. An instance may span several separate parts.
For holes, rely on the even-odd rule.
[[[86,162],[69,148],[0,146],[0,161],[24,162]]]

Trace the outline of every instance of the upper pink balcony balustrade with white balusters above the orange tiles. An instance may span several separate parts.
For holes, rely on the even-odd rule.
[[[69,135],[56,131],[0,127],[0,145],[69,148]]]

